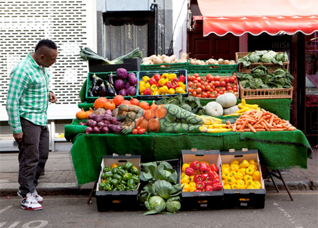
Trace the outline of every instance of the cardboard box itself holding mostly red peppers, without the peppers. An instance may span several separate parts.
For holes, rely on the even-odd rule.
[[[220,151],[218,150],[196,150],[191,151],[182,150],[182,158],[180,169],[183,163],[191,163],[194,160],[206,161],[210,164],[215,163],[218,167],[218,175],[222,182],[221,175],[221,160]],[[181,170],[179,171],[181,175]],[[206,192],[183,192],[181,197],[181,210],[206,210],[206,209],[220,209],[223,202],[223,191],[206,191]]]

